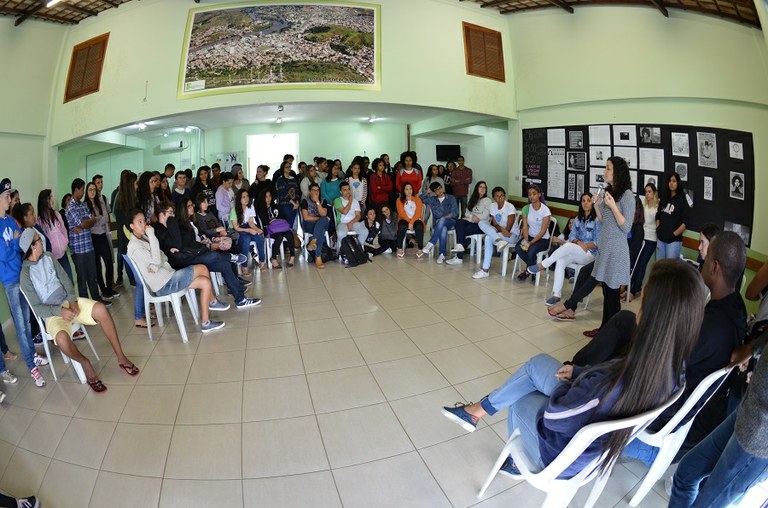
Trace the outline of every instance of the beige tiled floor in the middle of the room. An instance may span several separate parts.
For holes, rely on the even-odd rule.
[[[381,256],[264,272],[251,290],[262,306],[223,313],[228,326],[206,336],[186,316],[188,344],[173,319],[154,341],[134,328],[127,289],[112,314],[141,375],[120,371],[92,328],[106,393],[59,359],[58,383],[44,368],[45,388],[27,376],[6,386],[0,489],[55,508],[538,506],[541,493],[501,477],[475,497],[506,412],[466,434],[439,409],[477,400],[541,351],[570,358],[601,298],[553,323],[546,288],[502,280],[496,261],[489,279],[475,269]],[[598,506],[626,506],[643,471],[619,465]],[[642,505],[665,506],[663,489]]]

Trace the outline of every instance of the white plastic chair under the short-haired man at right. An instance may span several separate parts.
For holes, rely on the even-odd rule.
[[[685,401],[685,403],[680,407],[680,409],[677,410],[675,416],[673,416],[672,419],[669,420],[667,424],[664,425],[664,427],[662,427],[658,432],[649,432],[647,430],[643,430],[640,432],[640,434],[638,434],[636,439],[639,439],[648,445],[655,446],[659,449],[659,453],[656,455],[656,459],[653,461],[650,469],[648,469],[648,472],[645,474],[645,477],[640,483],[640,486],[637,488],[635,495],[632,496],[632,500],[629,502],[629,506],[637,506],[640,504],[640,502],[643,500],[646,494],[648,494],[656,481],[661,478],[661,475],[663,475],[669,465],[672,464],[675,455],[677,455],[677,452],[683,445],[686,436],[688,436],[688,431],[691,430],[691,426],[693,425],[693,420],[696,418],[696,415],[699,413],[699,411],[701,411],[701,409],[712,397],[712,395],[714,395],[725,378],[728,377],[728,374],[731,373],[731,370],[733,370],[733,367],[731,366],[723,367],[722,369],[716,370],[712,374],[702,379],[696,389],[693,390],[691,395],[688,396],[688,399]],[[714,386],[716,386],[716,388],[711,389]],[[702,403],[699,405],[699,408],[696,410],[696,412],[691,415],[691,418],[688,420],[688,422],[675,430],[675,427],[678,426],[682,419],[685,418],[685,416],[694,408],[694,406],[696,406],[699,401],[702,401]]]

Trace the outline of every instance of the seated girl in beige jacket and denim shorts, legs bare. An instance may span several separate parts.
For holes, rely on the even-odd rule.
[[[154,228],[144,221],[144,213],[131,210],[127,220],[132,233],[128,241],[128,257],[133,260],[149,290],[157,296],[167,296],[182,290],[199,289],[201,331],[207,333],[223,328],[224,321],[212,321],[209,311],[225,311],[229,305],[216,300],[211,274],[205,265],[174,270],[160,249]]]

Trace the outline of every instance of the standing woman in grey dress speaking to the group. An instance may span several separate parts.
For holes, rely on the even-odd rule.
[[[561,321],[575,319],[578,302],[589,295],[598,282],[603,287],[603,320],[600,326],[621,310],[619,288],[629,282],[630,276],[627,233],[632,228],[635,215],[635,196],[627,161],[621,157],[609,158],[605,164],[605,182],[608,187],[595,199],[595,212],[601,222],[595,266],[592,275],[582,287],[574,289],[564,304],[558,303],[549,308],[549,315]],[[590,334],[596,335],[597,332],[592,330]]]

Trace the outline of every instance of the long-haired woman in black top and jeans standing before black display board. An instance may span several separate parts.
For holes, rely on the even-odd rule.
[[[680,175],[672,173],[667,179],[667,192],[656,213],[656,259],[677,259],[683,246],[683,233],[688,223],[688,199],[683,192]]]

